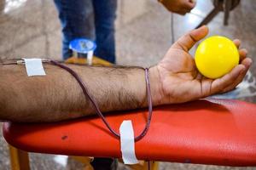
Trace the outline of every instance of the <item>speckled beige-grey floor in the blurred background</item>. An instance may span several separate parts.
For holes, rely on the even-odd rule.
[[[198,0],[191,14],[174,14],[175,38],[193,29],[212,9],[211,0]],[[17,7],[20,3],[20,6]],[[16,8],[15,8],[16,5]],[[134,8],[136,10],[134,10]],[[132,10],[133,9],[133,10]],[[230,25],[223,26],[224,14],[208,25],[210,35],[240,38],[242,47],[256,60],[256,3],[242,0],[231,12]],[[3,11],[3,12],[1,12]],[[171,14],[156,0],[119,1],[116,20],[117,61],[119,65],[156,64],[172,44]],[[52,0],[0,0],[0,59],[50,56],[61,59],[61,30]],[[191,50],[193,54],[195,49]],[[256,76],[256,64],[251,71]],[[256,103],[255,97],[243,98]],[[0,124],[1,126],[1,124]],[[69,160],[67,167],[54,161],[55,156],[31,154],[32,169],[82,169]],[[0,133],[0,170],[10,169],[9,151]],[[119,169],[127,167],[119,166]],[[255,169],[255,167],[217,167],[161,162],[160,169]]]

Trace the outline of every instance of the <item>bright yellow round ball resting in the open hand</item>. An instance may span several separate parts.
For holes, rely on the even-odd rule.
[[[195,51],[195,65],[208,78],[223,77],[238,64],[238,49],[227,37],[208,37]]]

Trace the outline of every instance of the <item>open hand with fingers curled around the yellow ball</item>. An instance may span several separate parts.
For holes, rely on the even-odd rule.
[[[160,63],[152,67],[152,70],[158,71],[159,74],[160,96],[157,99],[161,100],[160,104],[182,103],[212,94],[225,93],[236,88],[245,77],[252,64],[252,59],[246,57],[246,49],[239,49],[240,64],[224,77],[212,80],[201,75],[196,69],[195,60],[189,54],[189,49],[195,45],[195,42],[206,37],[207,33],[207,26],[202,26],[180,37]],[[241,42],[239,40],[234,42],[239,48]]]

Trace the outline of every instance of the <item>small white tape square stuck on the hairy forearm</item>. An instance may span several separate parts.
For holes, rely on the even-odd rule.
[[[24,59],[28,77],[45,76],[42,59]]]

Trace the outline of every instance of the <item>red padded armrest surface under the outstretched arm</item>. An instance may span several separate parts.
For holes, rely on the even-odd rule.
[[[138,134],[148,111],[108,113],[119,131],[131,119]],[[94,116],[68,122],[19,124],[5,122],[3,135],[22,150],[120,157],[119,140]],[[136,143],[138,159],[227,166],[256,166],[256,105],[237,100],[198,100],[154,108],[148,134]]]

